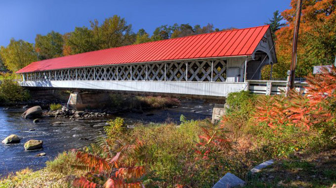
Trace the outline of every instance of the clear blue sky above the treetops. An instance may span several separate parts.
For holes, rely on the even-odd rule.
[[[275,10],[290,8],[291,0],[0,0],[0,46],[11,38],[35,42],[37,34],[64,34],[89,20],[102,22],[114,14],[132,24],[134,32],[173,23],[215,28],[264,25]]]

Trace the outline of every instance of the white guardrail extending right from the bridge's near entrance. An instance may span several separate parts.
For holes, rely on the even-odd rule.
[[[287,81],[275,80],[247,80],[249,91],[253,94],[282,94],[286,92]],[[295,82],[295,90],[303,94],[306,93],[306,82]]]

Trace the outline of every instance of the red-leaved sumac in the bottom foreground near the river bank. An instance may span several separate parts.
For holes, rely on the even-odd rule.
[[[81,165],[74,165],[77,169],[88,170],[81,178],[73,182],[77,188],[144,188],[146,179],[145,167],[139,165],[139,156],[144,152],[143,144],[123,145],[119,152],[112,154],[112,148],[104,138],[100,146],[103,152],[92,154],[73,150]]]

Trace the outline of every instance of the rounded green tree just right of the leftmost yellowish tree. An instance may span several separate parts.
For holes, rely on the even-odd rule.
[[[54,31],[45,36],[36,35],[35,50],[39,53],[39,59],[41,60],[63,56],[62,35]]]

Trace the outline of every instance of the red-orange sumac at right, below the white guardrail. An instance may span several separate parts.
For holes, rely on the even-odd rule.
[[[293,125],[309,131],[335,117],[336,68],[324,69],[323,74],[309,75],[306,94],[291,91],[283,95],[262,96],[254,114],[258,122],[277,129],[280,125]]]

